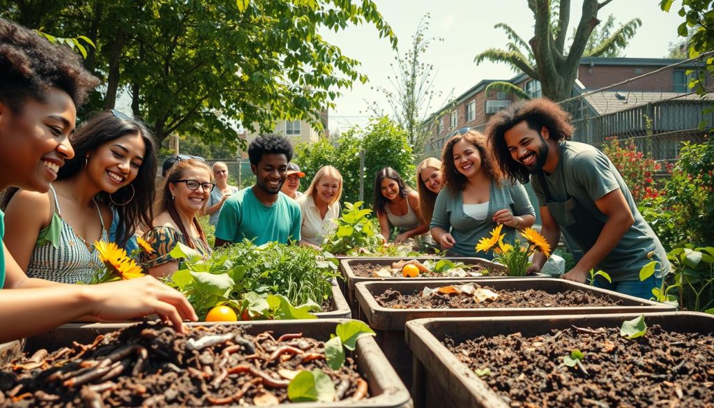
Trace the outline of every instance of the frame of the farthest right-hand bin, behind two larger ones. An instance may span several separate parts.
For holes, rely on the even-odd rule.
[[[416,259],[419,262],[433,261],[438,262],[441,259],[448,259],[452,262],[461,262],[466,265],[483,265],[489,269],[494,270],[506,270],[506,267],[500,264],[494,264],[488,259],[483,258],[452,258],[452,257],[382,257],[382,258],[346,258],[340,261],[340,270],[344,280],[341,282],[341,289],[343,293],[346,294],[347,302],[352,308],[352,318],[364,320],[359,304],[357,302],[357,296],[355,291],[355,285],[360,282],[408,282],[415,279],[486,279],[489,277],[470,277],[470,278],[447,278],[447,277],[418,277],[418,278],[404,278],[404,277],[392,277],[392,278],[377,278],[377,277],[358,277],[354,272],[352,272],[352,265],[356,264],[371,264],[375,267],[391,267],[394,262],[398,261],[408,261],[411,259]],[[503,279],[508,277],[490,277],[491,279]]]

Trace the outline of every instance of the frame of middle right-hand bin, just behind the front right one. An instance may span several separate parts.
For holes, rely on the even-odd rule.
[[[611,307],[502,307],[481,309],[393,309],[377,303],[375,297],[387,289],[401,294],[412,294],[424,287],[436,288],[462,282],[478,282],[496,291],[538,289],[555,294],[568,289],[581,289],[586,292],[604,294],[623,304]],[[605,289],[578,284],[565,279],[551,278],[510,278],[510,279],[441,279],[413,280],[410,282],[363,282],[356,285],[357,300],[366,318],[366,322],[377,333],[377,343],[402,381],[411,386],[412,353],[404,341],[404,326],[413,319],[426,317],[484,317],[484,316],[542,316],[548,314],[610,314],[673,312],[675,307],[660,302],[640,299]]]

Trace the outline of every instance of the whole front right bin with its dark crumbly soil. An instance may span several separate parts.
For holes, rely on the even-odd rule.
[[[645,314],[648,331],[643,337],[621,337],[623,322],[638,316],[408,322],[415,405],[711,407],[714,317]],[[583,353],[583,368],[563,365],[575,349]]]

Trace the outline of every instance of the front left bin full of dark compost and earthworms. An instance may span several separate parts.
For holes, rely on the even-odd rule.
[[[26,369],[14,367],[16,371],[11,374],[8,369],[12,367],[4,367],[0,390],[5,399],[0,406],[13,402],[29,407],[40,401],[48,407],[90,402],[103,402],[105,406],[198,407],[272,402],[283,406],[289,403],[291,377],[304,369],[321,369],[320,375],[327,376],[335,386],[338,401],[312,402],[301,407],[411,407],[406,388],[372,337],[358,339],[355,351],[348,352],[341,368],[333,370],[328,366],[323,342],[330,339],[341,322],[351,321],[189,324],[187,336],[149,322],[63,326],[28,339],[28,355],[39,347],[49,349],[49,357],[37,358],[47,364],[33,368],[36,364],[28,359],[18,360],[28,365]],[[124,332],[107,334],[118,328]],[[104,338],[95,340],[98,334],[104,334]],[[294,335],[281,338],[283,334]],[[91,345],[83,347],[73,342]],[[129,354],[122,354],[124,349],[129,349]],[[53,350],[58,351],[52,354]],[[57,357],[59,352],[64,355]],[[61,362],[64,359],[67,361]],[[85,382],[87,376],[83,377],[81,370],[101,369],[105,359],[111,360],[109,367],[120,367],[116,369],[121,373]],[[53,376],[58,377],[56,381]],[[22,387],[17,389],[16,384]]]

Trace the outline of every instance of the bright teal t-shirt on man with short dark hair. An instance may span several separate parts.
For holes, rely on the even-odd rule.
[[[266,242],[300,241],[300,206],[283,194],[268,207],[258,201],[251,187],[233,194],[223,203],[216,224],[216,238],[228,242],[251,239],[256,245]]]

